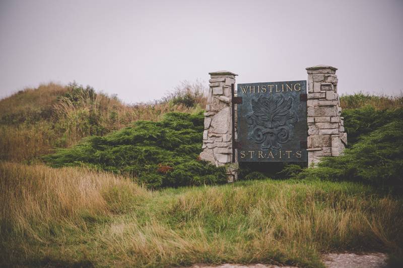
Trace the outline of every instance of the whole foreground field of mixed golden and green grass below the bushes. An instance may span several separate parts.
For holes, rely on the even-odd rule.
[[[7,162],[0,180],[0,264],[322,267],[321,252],[403,244],[403,201],[353,183],[150,192],[108,173]]]

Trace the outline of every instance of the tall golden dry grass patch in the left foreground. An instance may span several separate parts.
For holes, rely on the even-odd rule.
[[[82,221],[83,215],[107,215],[114,204],[148,192],[124,177],[81,168],[0,162],[0,236],[44,241],[53,224]]]

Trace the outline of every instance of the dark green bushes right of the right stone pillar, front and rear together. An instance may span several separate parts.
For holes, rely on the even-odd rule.
[[[345,111],[348,139],[344,155],[325,158],[297,178],[355,181],[381,190],[403,191],[403,109],[376,111],[363,107]]]

